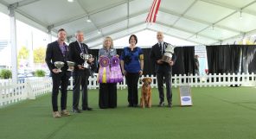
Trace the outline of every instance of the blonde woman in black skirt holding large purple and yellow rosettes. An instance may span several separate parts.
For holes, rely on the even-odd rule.
[[[103,47],[99,49],[99,108],[117,107],[117,82],[111,78],[112,60],[118,60],[118,54],[113,48],[113,41],[107,36],[103,41]],[[119,67],[119,64],[117,65]],[[120,67],[119,67],[120,68]],[[119,71],[120,72],[120,71]],[[118,72],[116,72],[118,73]],[[121,73],[121,72],[120,72]],[[121,75],[121,78],[122,75]]]

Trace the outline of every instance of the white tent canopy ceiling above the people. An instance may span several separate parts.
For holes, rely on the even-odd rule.
[[[0,0],[8,14],[53,33],[65,28],[69,41],[77,30],[84,31],[86,43],[99,47],[106,35],[118,40],[144,30],[210,45],[255,33],[255,0],[162,0],[157,22],[145,23],[153,0]],[[86,22],[90,19],[91,22]],[[154,36],[155,37],[155,36]]]

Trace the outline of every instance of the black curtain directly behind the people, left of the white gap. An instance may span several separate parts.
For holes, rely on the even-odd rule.
[[[150,60],[150,48],[143,48],[144,53],[144,75],[155,75],[154,62]],[[123,49],[118,48],[117,54],[121,55]],[[195,47],[176,47],[176,63],[173,66],[173,74],[190,74],[195,73]],[[89,50],[89,54],[93,54],[95,58],[94,66],[92,67],[94,73],[98,73],[99,65],[99,49]]]

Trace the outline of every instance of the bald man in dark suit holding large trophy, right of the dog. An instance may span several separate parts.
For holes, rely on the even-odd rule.
[[[169,62],[163,62],[161,59],[164,54],[164,50],[168,43],[163,41],[163,33],[157,32],[157,44],[151,47],[150,59],[155,63],[155,72],[157,73],[157,87],[159,92],[159,106],[164,105],[164,93],[163,93],[163,79],[166,83],[166,97],[168,101],[168,107],[172,106],[172,92],[171,92],[171,72],[172,66],[176,61],[176,55],[172,55],[172,59]]]

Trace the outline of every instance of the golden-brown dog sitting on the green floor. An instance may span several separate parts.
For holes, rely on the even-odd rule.
[[[141,88],[141,98],[140,98],[140,106],[144,108],[145,106],[151,107],[151,82],[152,79],[144,78],[142,79],[143,85]]]

